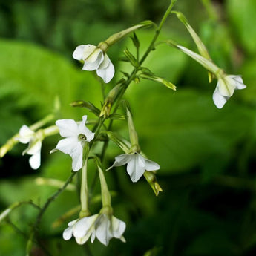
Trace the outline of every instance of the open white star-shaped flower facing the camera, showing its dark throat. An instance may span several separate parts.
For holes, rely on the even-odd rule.
[[[78,171],[82,168],[82,151],[85,142],[90,142],[94,138],[94,133],[86,126],[87,116],[82,116],[82,122],[76,123],[73,119],[60,119],[56,121],[59,127],[59,134],[62,139],[56,145],[56,149],[72,157],[72,169]]]

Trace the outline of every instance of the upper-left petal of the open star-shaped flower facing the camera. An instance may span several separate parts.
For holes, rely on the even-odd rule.
[[[59,127],[59,134],[62,137],[78,137],[78,125],[73,119],[60,119],[56,121]]]

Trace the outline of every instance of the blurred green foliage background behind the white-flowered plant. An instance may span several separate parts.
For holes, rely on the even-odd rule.
[[[72,59],[77,45],[97,45],[111,34],[151,19],[160,22],[167,0],[9,0],[0,1],[0,145],[19,131],[53,111],[59,96],[59,118],[93,117],[85,109],[71,108],[76,99],[100,107],[99,79],[81,70]],[[111,240],[78,246],[62,240],[62,231],[74,214],[59,227],[53,222],[79,204],[76,191],[63,192],[47,209],[39,239],[57,255],[217,256],[256,253],[256,1],[178,0],[182,11],[200,35],[209,53],[227,73],[242,74],[246,90],[219,110],[211,96],[216,80],[177,50],[161,45],[145,65],[170,79],[177,91],[153,82],[131,84],[125,97],[131,103],[142,151],[161,165],[157,177],[163,193],[155,197],[148,183],[133,184],[125,168],[106,174],[114,215],[127,223],[127,243]],[[137,33],[145,50],[154,31]],[[160,36],[196,50],[175,16],[170,16]],[[130,39],[108,51],[116,70],[129,70],[118,59]],[[116,73],[118,80],[121,73]],[[107,85],[113,87],[114,81]],[[127,136],[125,122],[117,121]],[[59,136],[42,146],[42,167],[33,171],[25,145],[17,145],[0,160],[0,211],[13,202],[33,199],[45,203],[56,188],[36,185],[37,177],[66,180],[70,157],[49,155]],[[105,167],[122,152],[110,145]],[[90,179],[95,168],[91,165]],[[98,184],[99,185],[99,184]],[[99,188],[91,191],[93,198]],[[100,209],[96,201],[93,213]],[[0,255],[25,255],[27,235],[36,210],[22,206],[0,225]],[[16,229],[19,227],[19,230]],[[90,254],[91,252],[91,254]],[[34,246],[32,255],[45,255]]]

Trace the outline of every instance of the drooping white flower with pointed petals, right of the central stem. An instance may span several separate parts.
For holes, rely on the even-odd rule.
[[[127,172],[134,183],[140,180],[140,177],[142,177],[145,171],[156,171],[160,169],[160,165],[142,157],[142,155],[137,152],[131,154],[120,154],[115,157],[115,162],[111,168],[114,166],[125,165],[126,163]],[[110,168],[108,168],[108,170],[109,169]]]

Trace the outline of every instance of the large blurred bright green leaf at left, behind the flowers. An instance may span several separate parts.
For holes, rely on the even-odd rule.
[[[84,96],[99,102],[100,88],[92,73],[74,68],[62,56],[30,43],[3,39],[0,51],[0,118],[4,120],[0,143],[16,134],[22,124],[31,125],[53,111],[56,96],[63,116],[73,119],[85,114],[70,107],[73,100]]]

